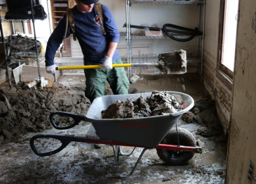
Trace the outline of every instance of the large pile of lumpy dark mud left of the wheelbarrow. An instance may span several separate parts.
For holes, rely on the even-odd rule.
[[[53,111],[85,114],[91,103],[84,87],[0,89],[0,145],[18,141],[30,132],[51,129]]]

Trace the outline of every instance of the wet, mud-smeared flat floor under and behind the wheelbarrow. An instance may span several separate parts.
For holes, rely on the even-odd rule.
[[[131,93],[153,90],[180,91],[190,95],[195,101],[204,103],[204,106],[208,104],[208,93],[198,74],[140,77],[141,80],[130,85]],[[58,85],[66,86],[64,89],[73,91],[84,86],[84,80],[84,76],[62,76],[58,78]],[[7,87],[6,84],[0,86],[2,89]],[[58,90],[55,93],[58,93]],[[66,98],[71,97],[72,95],[69,95]],[[159,159],[155,149],[147,150],[134,174],[128,178],[118,177],[110,146],[95,149],[93,144],[72,142],[61,152],[46,157],[37,156],[30,148],[30,138],[39,133],[96,138],[90,122],[81,122],[69,130],[51,128],[42,132],[23,134],[18,142],[0,145],[0,183],[224,183],[227,151],[225,136],[207,131],[213,126],[205,123],[180,120],[178,127],[186,128],[193,133],[203,146],[203,153],[196,153],[187,165],[168,166]],[[200,134],[200,131],[205,133]],[[122,151],[129,152],[131,148],[122,147]],[[136,148],[129,157],[120,156],[119,171],[131,171],[141,151],[142,148]]]

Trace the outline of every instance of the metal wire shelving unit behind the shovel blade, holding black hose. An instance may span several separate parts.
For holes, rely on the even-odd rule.
[[[131,33],[131,6],[132,4],[197,4],[199,6],[198,8],[198,28],[200,28],[201,24],[201,6],[203,7],[203,17],[202,17],[202,27],[203,27],[203,35],[197,36],[197,56],[189,56],[187,55],[187,62],[193,63],[196,62],[200,64],[200,75],[202,80],[202,67],[203,67],[203,47],[204,47],[204,19],[205,19],[205,1],[125,1],[125,7],[126,7],[126,33],[120,33],[120,38],[126,39],[127,42],[127,57],[123,58],[123,60],[127,63],[133,63],[133,62],[158,62],[158,56],[146,56],[144,57],[138,57],[138,56],[132,56],[132,39],[164,39],[169,38],[165,35],[163,36],[144,36],[142,34],[132,34]],[[177,38],[187,38],[187,35],[181,35],[181,34],[172,34],[173,36]],[[201,40],[201,53],[200,53],[200,40]],[[199,66],[199,65],[198,65]],[[127,68],[128,77],[132,77],[132,67]]]

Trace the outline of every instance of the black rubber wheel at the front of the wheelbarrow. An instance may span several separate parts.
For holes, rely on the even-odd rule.
[[[179,142],[182,146],[196,147],[196,139],[192,133],[184,128],[178,128]],[[178,145],[176,128],[172,128],[164,137],[160,144]],[[171,166],[179,166],[186,164],[194,156],[194,152],[190,151],[174,151],[157,149],[157,154],[163,162]]]

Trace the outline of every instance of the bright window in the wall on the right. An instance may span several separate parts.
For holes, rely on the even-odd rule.
[[[239,0],[221,0],[220,8],[218,63],[220,70],[233,78]]]

